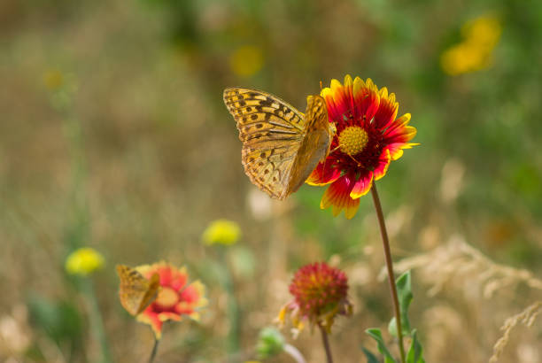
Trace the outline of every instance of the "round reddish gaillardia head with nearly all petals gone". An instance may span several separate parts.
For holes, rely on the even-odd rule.
[[[278,321],[283,325],[290,312],[295,335],[304,328],[305,321],[311,327],[320,325],[329,333],[337,314],[352,314],[347,293],[348,279],[338,268],[325,262],[303,266],[290,283],[290,294],[294,298],[283,306]]]

